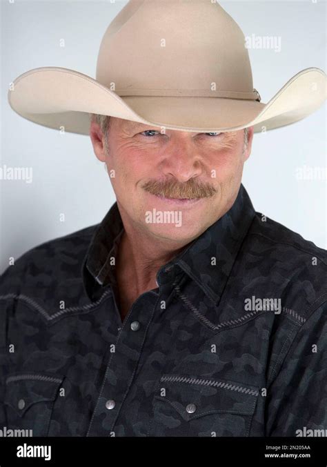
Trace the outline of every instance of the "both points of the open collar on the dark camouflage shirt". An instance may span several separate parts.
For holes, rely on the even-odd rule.
[[[217,305],[254,216],[250,197],[241,184],[230,210],[159,269],[159,284],[171,281],[182,270]],[[117,285],[113,262],[122,233],[123,222],[115,202],[98,224],[83,260],[83,285],[90,299],[97,290]]]

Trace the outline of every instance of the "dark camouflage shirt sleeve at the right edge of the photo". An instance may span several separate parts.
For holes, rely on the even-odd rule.
[[[290,344],[268,388],[265,419],[267,437],[310,436],[308,430],[327,433],[327,301]]]

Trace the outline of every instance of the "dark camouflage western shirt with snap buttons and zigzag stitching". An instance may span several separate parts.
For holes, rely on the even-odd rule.
[[[121,321],[123,225],[32,248],[0,279],[0,428],[34,436],[298,436],[327,430],[326,251],[232,208]],[[326,432],[325,432],[326,433]]]

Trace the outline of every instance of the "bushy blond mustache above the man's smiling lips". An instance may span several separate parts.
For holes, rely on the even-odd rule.
[[[208,198],[216,192],[212,185],[199,183],[194,179],[190,179],[185,183],[179,183],[178,181],[147,181],[142,188],[152,193],[152,195],[181,199]]]

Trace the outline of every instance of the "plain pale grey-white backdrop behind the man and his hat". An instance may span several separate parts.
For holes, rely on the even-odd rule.
[[[1,166],[32,167],[33,182],[0,180],[0,272],[43,241],[99,223],[115,194],[90,138],[45,128],[11,110],[8,86],[32,68],[61,66],[95,77],[99,45],[126,1],[1,1]],[[326,71],[324,1],[221,1],[244,32],[280,36],[281,52],[249,50],[253,83],[268,102],[297,72]],[[65,39],[66,47],[59,46]],[[255,210],[326,248],[326,105],[293,125],[256,134],[243,183]],[[66,221],[59,216],[63,212]]]

